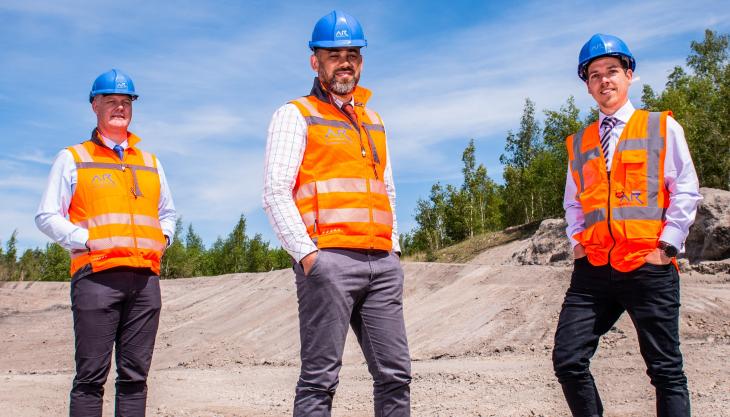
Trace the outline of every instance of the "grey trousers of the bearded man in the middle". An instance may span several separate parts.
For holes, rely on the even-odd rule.
[[[309,275],[301,264],[294,272],[302,361],[294,416],[330,416],[349,326],[374,380],[375,416],[410,416],[411,360],[398,256],[323,249]]]

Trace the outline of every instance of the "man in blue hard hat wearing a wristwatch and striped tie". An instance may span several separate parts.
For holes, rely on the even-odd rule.
[[[629,48],[611,35],[591,37],[578,58],[578,76],[600,112],[597,122],[566,140],[563,205],[575,264],[553,366],[573,416],[603,415],[590,360],[624,311],[656,390],[657,416],[690,415],[676,256],[702,196],[672,113],[631,104],[635,68]]]

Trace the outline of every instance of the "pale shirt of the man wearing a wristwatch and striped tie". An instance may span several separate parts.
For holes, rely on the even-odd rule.
[[[634,114],[634,110],[631,102],[627,101],[616,113],[610,115],[619,119],[619,122],[611,131],[608,145],[609,155],[613,156],[618,139],[621,137],[621,133],[623,133],[631,115]],[[608,116],[603,112],[599,112],[598,125],[600,126],[603,119]],[[684,251],[684,241],[689,234],[689,227],[694,222],[697,204],[702,200],[702,195],[699,191],[700,185],[697,172],[695,172],[692,163],[692,156],[684,138],[684,130],[671,116],[667,117],[666,146],[664,186],[669,191],[669,207],[665,213],[665,224],[659,240],[671,244],[680,251]],[[583,208],[580,202],[575,199],[577,191],[578,187],[573,180],[570,164],[568,164],[563,208],[565,208],[565,220],[568,222],[566,233],[573,246],[580,243],[573,239],[573,236],[585,229]]]

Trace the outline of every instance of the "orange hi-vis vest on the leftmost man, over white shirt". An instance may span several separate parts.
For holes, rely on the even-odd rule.
[[[166,240],[159,220],[160,177],[154,155],[129,134],[124,161],[104,146],[96,129],[86,142],[67,148],[78,181],[69,206],[71,223],[89,231],[88,251],[71,253],[71,275],[120,266],[160,273]]]

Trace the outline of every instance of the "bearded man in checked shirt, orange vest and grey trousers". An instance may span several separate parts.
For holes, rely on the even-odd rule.
[[[294,416],[331,414],[352,327],[374,379],[375,415],[410,415],[403,270],[385,127],[360,87],[360,23],[322,17],[309,47],[310,93],[274,114],[263,205],[294,260],[301,373]]]

